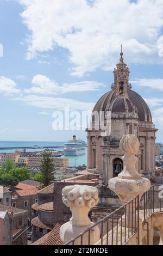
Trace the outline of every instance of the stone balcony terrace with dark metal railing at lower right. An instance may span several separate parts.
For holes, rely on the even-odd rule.
[[[128,222],[129,220],[129,222]],[[163,227],[163,198],[160,185],[105,216],[65,245],[91,245],[91,233],[98,225],[101,238],[95,245],[153,245],[153,228]],[[161,230],[162,232],[162,230]],[[162,242],[160,232],[160,243]],[[83,243],[87,237],[87,243]]]

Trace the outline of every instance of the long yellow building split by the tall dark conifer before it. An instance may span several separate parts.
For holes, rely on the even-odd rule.
[[[42,163],[42,157],[28,157],[28,166],[31,167],[39,167]],[[68,167],[68,159],[53,157],[54,166],[57,168],[67,168]]]

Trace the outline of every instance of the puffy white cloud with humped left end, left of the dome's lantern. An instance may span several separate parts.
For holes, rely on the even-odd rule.
[[[35,94],[64,94],[70,92],[86,92],[99,90],[99,87],[104,86],[103,83],[95,81],[83,81],[78,83],[65,83],[62,86],[43,75],[36,75],[33,77],[32,83],[34,86],[30,89],[25,89],[25,93]]]

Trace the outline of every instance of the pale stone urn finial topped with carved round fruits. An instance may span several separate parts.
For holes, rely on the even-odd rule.
[[[88,213],[98,203],[98,190],[92,186],[66,186],[62,189],[62,202],[70,207],[72,217],[70,221],[61,225],[60,239],[67,243],[79,234],[83,233],[87,228],[91,228],[94,224],[90,221]],[[91,229],[90,245],[94,245],[99,241],[98,225]],[[80,245],[80,237],[74,242],[74,245]],[[89,232],[83,235],[83,245],[89,244]]]

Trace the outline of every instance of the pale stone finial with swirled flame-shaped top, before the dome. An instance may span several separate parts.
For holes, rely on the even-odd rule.
[[[120,198],[122,204],[126,204],[139,195],[141,199],[143,193],[149,190],[151,182],[142,178],[135,168],[137,152],[139,151],[139,141],[135,135],[123,135],[120,142],[120,149],[124,153],[122,157],[124,168],[116,178],[109,180],[109,188]],[[130,214],[128,210],[130,209]],[[132,215],[131,207],[127,209],[127,225],[130,225]],[[124,222],[122,221],[122,225]]]

